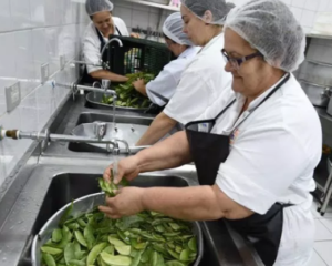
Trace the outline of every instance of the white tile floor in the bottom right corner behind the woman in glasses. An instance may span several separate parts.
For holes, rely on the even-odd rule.
[[[313,203],[312,213],[315,218],[315,242],[309,266],[332,266],[332,207],[322,217],[317,212],[317,203]]]

